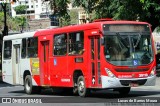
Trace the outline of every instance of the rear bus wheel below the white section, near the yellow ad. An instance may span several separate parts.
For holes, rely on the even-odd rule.
[[[32,94],[33,93],[33,85],[32,85],[32,78],[30,75],[27,75],[25,77],[24,81],[24,90],[27,94]]]

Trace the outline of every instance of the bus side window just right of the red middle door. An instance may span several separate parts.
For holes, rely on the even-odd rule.
[[[67,34],[54,36],[54,55],[66,55],[67,53]]]

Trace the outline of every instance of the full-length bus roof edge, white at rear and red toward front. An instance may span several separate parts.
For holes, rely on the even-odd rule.
[[[88,24],[81,25],[71,25],[65,27],[58,27],[53,29],[44,29],[37,30],[34,32],[25,32],[21,34],[4,36],[3,40],[13,40],[13,39],[21,39],[33,36],[42,36],[42,35],[50,35],[50,34],[59,34],[59,33],[67,33],[67,32],[76,32],[82,30],[90,30],[90,29],[102,29],[103,24],[148,24],[147,22],[137,22],[137,21],[98,21]]]

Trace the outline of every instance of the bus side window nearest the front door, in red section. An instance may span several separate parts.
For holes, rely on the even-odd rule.
[[[84,52],[84,33],[69,33],[69,55],[82,55]]]

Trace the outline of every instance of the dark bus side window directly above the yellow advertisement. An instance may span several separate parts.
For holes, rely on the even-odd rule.
[[[27,39],[27,57],[37,57],[38,55],[38,38]]]

